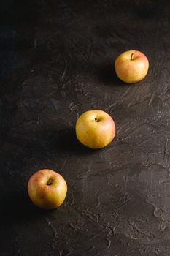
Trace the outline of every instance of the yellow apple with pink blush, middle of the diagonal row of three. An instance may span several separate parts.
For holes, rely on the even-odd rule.
[[[88,148],[104,148],[115,137],[115,122],[103,110],[89,110],[78,118],[76,135]]]

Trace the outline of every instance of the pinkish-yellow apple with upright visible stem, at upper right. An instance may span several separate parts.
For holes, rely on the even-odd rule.
[[[115,72],[125,83],[136,83],[142,80],[149,69],[149,61],[139,50],[127,50],[115,60]]]

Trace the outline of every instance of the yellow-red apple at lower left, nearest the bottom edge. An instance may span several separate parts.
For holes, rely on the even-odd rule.
[[[66,192],[66,181],[53,170],[39,170],[28,181],[28,195],[39,208],[58,208],[63,203]]]

